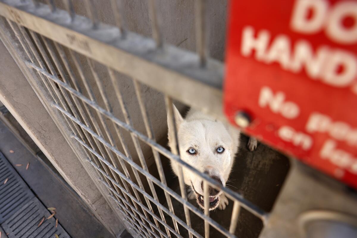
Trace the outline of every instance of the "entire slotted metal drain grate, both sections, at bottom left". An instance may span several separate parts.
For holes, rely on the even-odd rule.
[[[52,238],[55,234],[60,238],[69,238],[60,224],[56,227],[54,217],[47,219],[50,215],[0,153],[0,224],[5,234],[9,238]]]

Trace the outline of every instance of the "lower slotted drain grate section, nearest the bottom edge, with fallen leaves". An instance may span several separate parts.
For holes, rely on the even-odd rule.
[[[9,233],[9,238],[52,238],[55,234],[60,238],[69,238],[60,224],[56,227],[54,217],[47,219],[50,215],[51,213],[37,198],[32,198],[1,226]],[[43,218],[45,220],[39,226]]]

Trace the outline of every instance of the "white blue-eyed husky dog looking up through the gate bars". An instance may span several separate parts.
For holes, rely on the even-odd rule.
[[[238,151],[240,131],[192,108],[186,118],[183,118],[174,106],[174,116],[181,159],[225,186]],[[170,127],[170,120],[172,118],[168,115],[169,146],[172,150],[171,138],[175,135],[174,128]],[[256,146],[257,141],[251,138],[248,148],[253,151]],[[172,162],[171,167],[177,175],[176,162]],[[190,198],[196,198],[197,204],[204,209],[202,178],[185,167],[182,167],[182,171],[184,182],[191,189]],[[220,210],[226,208],[228,199],[222,191],[209,187],[209,194],[210,211],[217,207]]]

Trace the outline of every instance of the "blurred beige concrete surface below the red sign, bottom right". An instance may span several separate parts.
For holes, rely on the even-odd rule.
[[[345,216],[344,219],[326,226],[304,224],[306,237],[356,237],[357,192],[346,184],[335,180],[297,160],[291,160],[292,169],[275,202],[269,221],[261,233],[262,238],[302,237],[302,221],[308,213],[332,212]],[[346,218],[348,217],[348,218]],[[325,219],[332,216],[325,216]],[[325,220],[320,217],[320,222]],[[349,221],[349,222],[347,222]],[[345,223],[346,222],[346,223]],[[334,224],[335,223],[335,224]],[[336,223],[345,227],[336,227]],[[321,223],[320,223],[321,224]],[[349,228],[346,228],[349,227]],[[314,234],[312,231],[315,231]],[[327,234],[324,234],[325,231]],[[352,232],[353,231],[353,232]],[[320,233],[319,233],[320,232]],[[333,236],[333,234],[336,234]],[[337,235],[338,234],[338,235]]]

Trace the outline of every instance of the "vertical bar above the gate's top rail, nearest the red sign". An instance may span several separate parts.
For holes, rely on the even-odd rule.
[[[196,0],[196,47],[200,57],[200,66],[207,64],[207,36],[206,36],[206,0]]]

